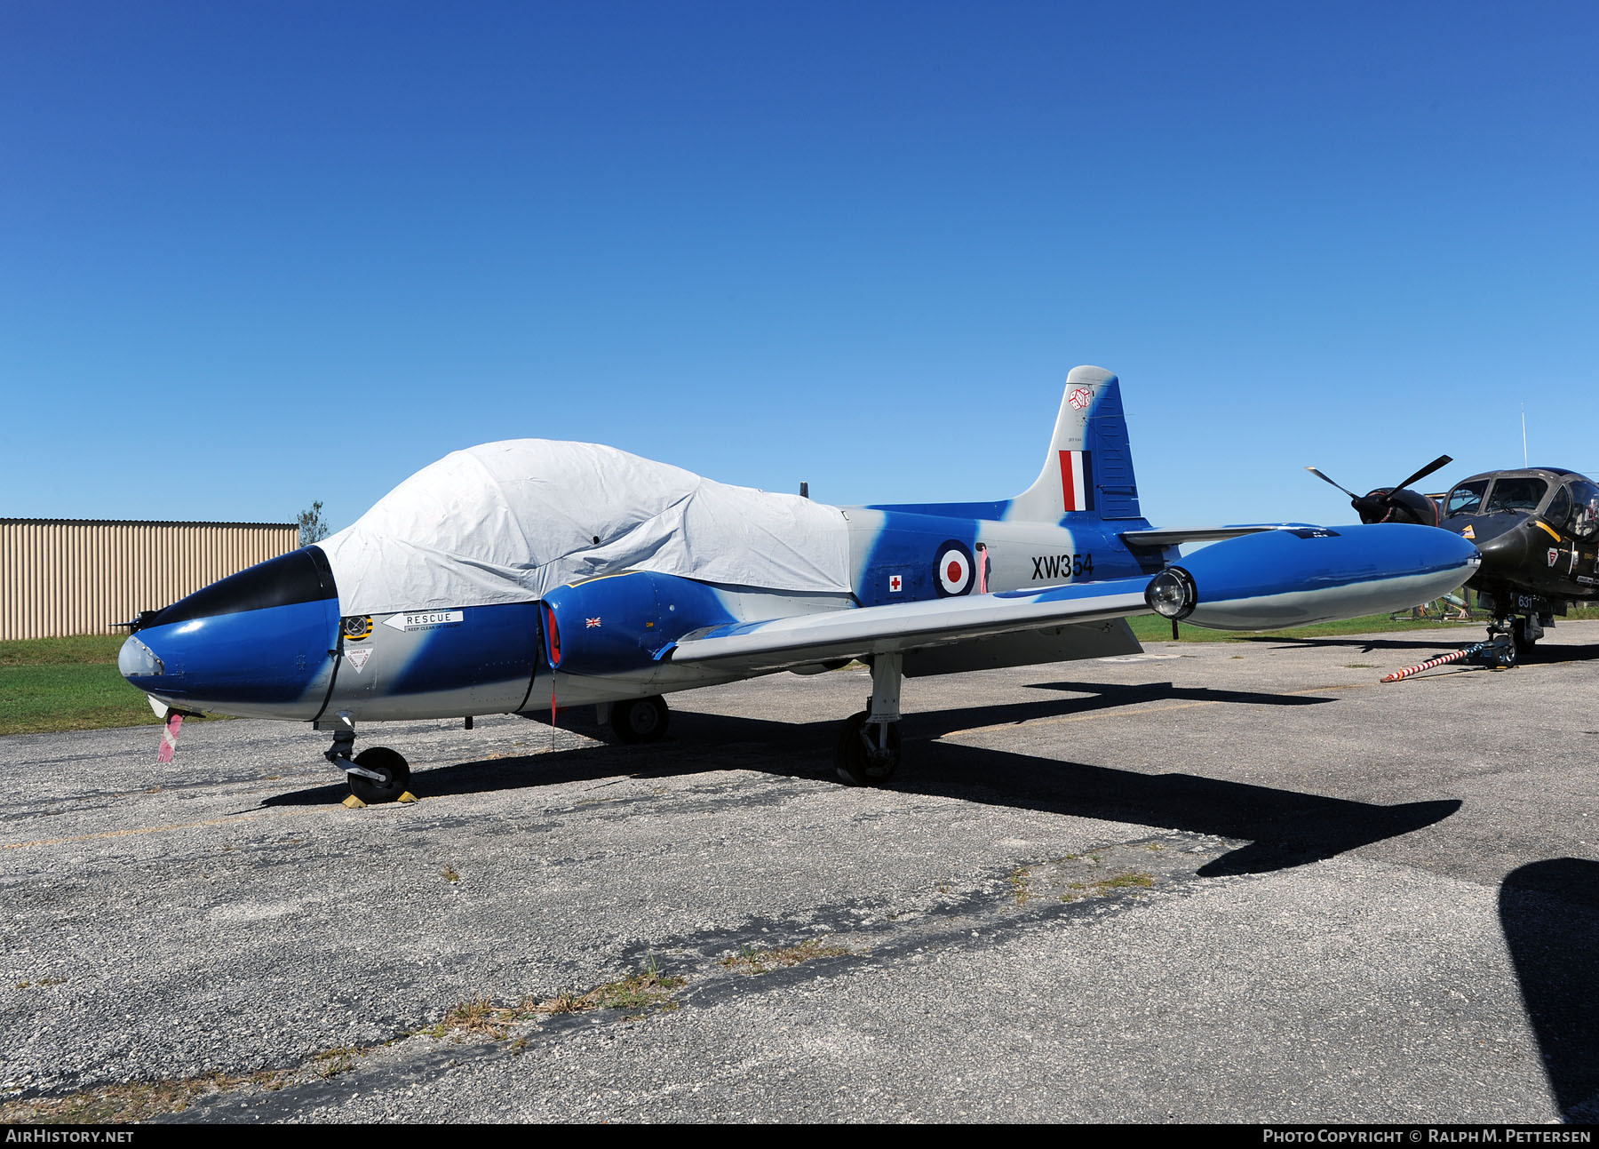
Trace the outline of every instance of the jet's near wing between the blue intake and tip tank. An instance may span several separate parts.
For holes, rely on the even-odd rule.
[[[729,623],[684,635],[662,650],[660,658],[748,674],[784,671],[1067,623],[1150,615],[1153,611],[1143,597],[1148,586],[1150,576],[1137,574],[1046,591],[1004,591],[766,623]]]

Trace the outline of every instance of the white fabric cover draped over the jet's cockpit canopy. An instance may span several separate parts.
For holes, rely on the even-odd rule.
[[[446,454],[318,546],[344,615],[529,602],[627,570],[851,589],[849,526],[836,507],[548,438]]]

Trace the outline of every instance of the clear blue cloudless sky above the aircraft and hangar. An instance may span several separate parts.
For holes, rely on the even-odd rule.
[[[1161,525],[1599,472],[1599,5],[0,5],[0,515],[334,526],[457,446]]]

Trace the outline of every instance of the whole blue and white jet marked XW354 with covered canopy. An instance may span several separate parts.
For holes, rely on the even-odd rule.
[[[1182,558],[1196,541],[1214,546]],[[142,613],[118,667],[169,719],[331,730],[355,795],[387,802],[409,767],[352,754],[360,722],[595,704],[617,739],[654,741],[662,695],[860,659],[871,698],[836,767],[873,784],[899,765],[902,675],[1135,653],[1126,616],[1148,611],[1258,631],[1399,610],[1477,562],[1402,523],[1153,530],[1116,376],[1079,366],[1014,499],[831,507],[606,446],[488,443],[317,546]]]

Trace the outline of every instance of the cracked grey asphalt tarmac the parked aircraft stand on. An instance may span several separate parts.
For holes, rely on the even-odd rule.
[[[366,810],[297,725],[0,738],[0,1101],[1593,1120],[1599,623],[1377,682],[1479,634],[910,680],[883,789],[831,771],[862,671],[673,696],[657,746],[366,727],[421,799]]]

